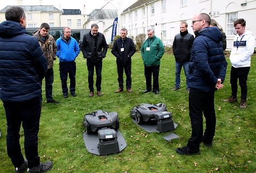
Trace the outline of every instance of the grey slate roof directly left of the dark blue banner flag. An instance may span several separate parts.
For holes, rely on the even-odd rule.
[[[94,9],[88,15],[88,20],[96,19],[115,19],[118,16],[118,10],[115,9]]]

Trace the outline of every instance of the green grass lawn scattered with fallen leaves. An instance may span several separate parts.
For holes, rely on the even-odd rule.
[[[175,83],[174,55],[165,54],[161,60],[159,95],[154,92],[143,93],[146,81],[140,53],[132,57],[133,92],[127,93],[124,90],[115,93],[119,85],[115,57],[110,51],[103,59],[102,97],[88,97],[88,71],[81,53],[76,60],[77,97],[69,95],[63,98],[58,60],[54,62],[53,98],[60,104],[45,103],[43,81],[38,150],[41,162],[53,162],[50,172],[256,172],[256,55],[252,56],[247,81],[247,109],[239,109],[239,103],[222,102],[231,95],[231,63],[229,57],[226,57],[229,65],[224,88],[215,93],[217,125],[213,148],[201,144],[200,155],[182,156],[176,154],[175,149],[186,145],[191,135],[191,125],[183,70],[181,89],[171,91]],[[240,93],[238,98],[240,100]],[[6,120],[3,104],[0,103],[0,172],[14,172],[6,151]],[[170,132],[148,133],[139,128],[130,117],[130,109],[140,103],[165,103],[178,125],[172,133],[180,136],[180,139],[168,142],[162,137]],[[127,148],[119,154],[96,156],[88,153],[85,148],[82,120],[86,113],[99,109],[119,113],[120,131],[127,142]],[[20,135],[20,143],[23,145],[22,128]]]

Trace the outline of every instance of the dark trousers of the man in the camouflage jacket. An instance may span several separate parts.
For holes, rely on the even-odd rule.
[[[45,75],[45,97],[47,101],[52,100],[53,68],[47,69]],[[42,81],[41,81],[42,85]]]

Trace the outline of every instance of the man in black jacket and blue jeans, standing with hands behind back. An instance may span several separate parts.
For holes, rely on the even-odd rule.
[[[179,90],[181,83],[181,68],[183,66],[184,73],[186,76],[186,90],[189,92],[188,86],[188,71],[190,53],[195,38],[188,32],[188,23],[183,21],[179,26],[181,30],[179,34],[175,35],[174,44],[172,45],[172,51],[175,56],[175,86],[172,91]]]

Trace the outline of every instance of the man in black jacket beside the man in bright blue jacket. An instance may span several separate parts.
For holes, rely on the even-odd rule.
[[[94,66],[96,71],[96,88],[97,95],[102,96],[101,90],[101,70],[102,70],[102,59],[106,57],[108,51],[108,45],[104,35],[98,32],[99,26],[97,24],[91,25],[91,31],[84,35],[82,39],[82,54],[87,59],[88,69],[88,83],[90,94],[89,97],[94,96],[93,88],[93,74]]]

